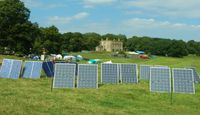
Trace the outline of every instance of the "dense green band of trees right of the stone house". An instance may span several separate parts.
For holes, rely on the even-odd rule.
[[[147,53],[161,56],[183,57],[188,54],[198,54],[200,42],[191,41],[188,43],[182,40],[132,37],[127,41],[128,50],[143,50]]]

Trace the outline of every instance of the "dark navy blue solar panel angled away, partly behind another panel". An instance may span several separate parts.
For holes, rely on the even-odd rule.
[[[42,68],[47,77],[53,77],[54,75],[54,63],[52,61],[43,62]]]

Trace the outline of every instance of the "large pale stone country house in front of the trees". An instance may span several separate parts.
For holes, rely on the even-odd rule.
[[[118,40],[101,40],[100,45],[96,47],[96,51],[122,51],[123,50],[123,42]]]

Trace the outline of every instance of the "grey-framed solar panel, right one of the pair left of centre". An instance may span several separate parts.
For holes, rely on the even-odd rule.
[[[83,71],[83,72],[85,72],[84,73],[85,75],[81,75],[81,73],[82,73],[81,66],[82,67],[86,66],[86,67],[88,67],[87,69],[89,69],[90,67],[92,67],[92,69],[94,68],[94,71],[96,71],[96,72],[94,72],[93,74],[94,75],[96,74],[96,75],[94,77],[91,77],[90,75],[86,75],[87,70]],[[88,72],[91,72],[91,70],[89,70]],[[91,73],[89,73],[89,74],[91,74]],[[87,78],[87,76],[89,76],[89,78]],[[86,83],[88,83],[88,81],[93,82],[93,84],[87,85]],[[98,65],[97,64],[78,64],[77,88],[98,88]]]

